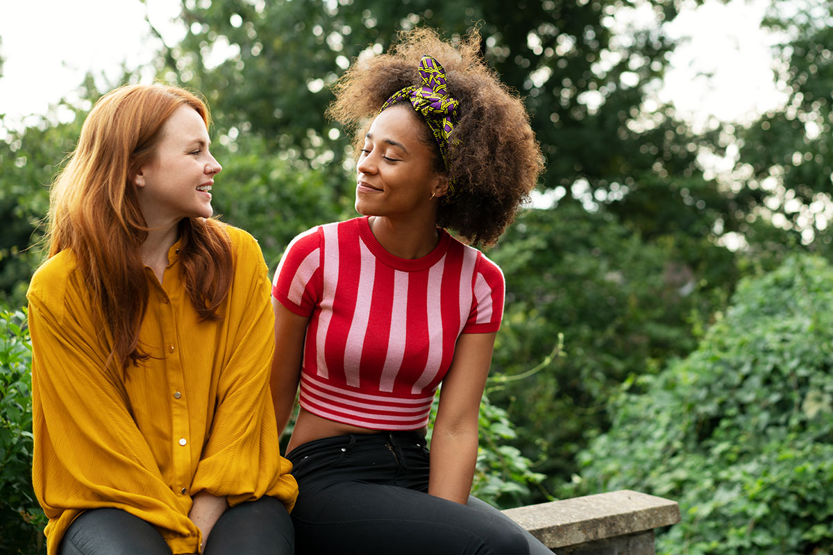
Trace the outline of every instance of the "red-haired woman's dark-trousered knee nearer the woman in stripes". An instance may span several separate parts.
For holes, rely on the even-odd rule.
[[[228,509],[206,542],[205,555],[292,555],[295,534],[287,508],[263,497]]]

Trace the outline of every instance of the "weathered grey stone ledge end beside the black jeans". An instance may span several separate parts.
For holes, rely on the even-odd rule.
[[[654,529],[680,522],[676,501],[629,489],[504,513],[559,555],[655,553]]]

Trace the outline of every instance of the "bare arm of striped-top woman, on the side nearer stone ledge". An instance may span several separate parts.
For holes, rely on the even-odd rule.
[[[462,334],[442,382],[431,435],[428,493],[466,503],[477,460],[477,420],[496,333]]]

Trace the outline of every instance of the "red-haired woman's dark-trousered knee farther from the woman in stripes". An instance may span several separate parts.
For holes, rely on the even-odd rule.
[[[171,555],[156,528],[118,508],[82,513],[63,535],[59,555]]]

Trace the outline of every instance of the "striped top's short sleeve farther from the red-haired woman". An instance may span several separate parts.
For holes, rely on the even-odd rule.
[[[485,255],[477,253],[472,281],[471,311],[462,333],[487,334],[500,330],[506,291],[503,272]]]

